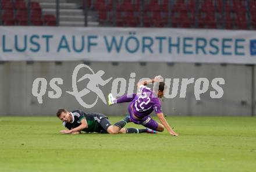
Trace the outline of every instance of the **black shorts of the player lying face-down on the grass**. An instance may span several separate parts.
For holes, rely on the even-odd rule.
[[[96,128],[95,132],[99,132],[102,134],[108,133],[108,127],[110,127],[112,124],[108,120],[108,117],[105,116],[105,114],[102,113],[93,113],[94,114],[94,120],[99,123],[98,127]]]

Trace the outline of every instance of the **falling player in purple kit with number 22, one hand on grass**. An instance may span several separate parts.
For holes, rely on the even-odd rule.
[[[153,91],[151,88],[145,87],[147,84],[156,83],[159,85],[156,91]],[[164,128],[168,130],[170,135],[179,136],[172,128],[169,126],[165,117],[163,116],[161,110],[161,102],[158,98],[163,97],[163,90],[165,89],[165,83],[163,83],[163,78],[157,76],[152,80],[141,81],[137,84],[139,94],[133,95],[123,95],[119,99],[113,98],[112,94],[108,95],[108,105],[114,105],[116,103],[130,102],[128,111],[130,116],[125,118],[126,122],[133,122],[135,124],[141,124],[147,128],[156,131],[163,131]],[[150,113],[155,111],[158,119],[161,123],[153,120]]]

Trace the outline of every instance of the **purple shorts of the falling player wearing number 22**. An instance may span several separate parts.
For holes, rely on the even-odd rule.
[[[132,112],[133,110],[131,110],[131,106],[132,106],[132,105],[130,105],[130,106],[128,107],[128,111],[129,111],[129,113],[130,113],[131,121],[132,121],[134,124],[140,124],[140,125],[143,125],[144,127],[147,127],[147,128],[150,128],[150,129],[152,129],[152,130],[157,131],[158,123],[157,123],[157,121],[153,120],[153,119],[151,118],[151,116],[145,116],[145,117],[143,117],[141,120],[136,120],[136,119],[134,119],[134,117],[133,117],[133,112]]]

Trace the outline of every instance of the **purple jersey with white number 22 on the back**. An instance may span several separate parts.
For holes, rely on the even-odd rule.
[[[155,110],[155,113],[162,113],[161,103],[152,89],[141,85],[139,91],[140,94],[137,94],[130,103],[135,116],[143,118],[148,116],[153,110]]]

